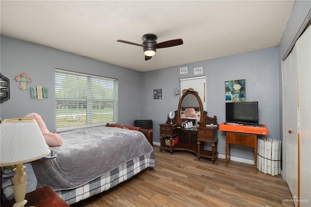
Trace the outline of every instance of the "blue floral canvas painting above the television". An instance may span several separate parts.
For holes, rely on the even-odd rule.
[[[225,81],[225,102],[246,102],[245,79]]]

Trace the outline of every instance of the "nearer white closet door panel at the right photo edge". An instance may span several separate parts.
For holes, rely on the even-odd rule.
[[[300,206],[311,206],[311,26],[297,45]],[[304,202],[308,200],[309,202]]]

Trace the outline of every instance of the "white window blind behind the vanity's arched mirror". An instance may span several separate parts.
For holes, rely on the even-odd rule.
[[[183,89],[188,89],[192,87],[195,91],[198,91],[198,94],[201,98],[203,108],[207,111],[207,100],[206,100],[206,76],[197,76],[191,78],[181,78],[180,81],[180,91]],[[180,97],[183,93],[180,93]]]

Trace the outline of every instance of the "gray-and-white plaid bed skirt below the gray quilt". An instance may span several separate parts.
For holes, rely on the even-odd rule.
[[[118,184],[130,179],[148,167],[155,167],[155,154],[136,157],[121,166],[105,173],[90,182],[75,189],[55,190],[55,192],[68,204],[74,204],[98,193],[109,190]]]

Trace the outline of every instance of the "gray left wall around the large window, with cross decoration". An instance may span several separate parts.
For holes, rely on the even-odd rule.
[[[0,72],[10,79],[10,99],[0,104],[1,119],[24,117],[35,112],[54,132],[55,68],[118,79],[118,121],[133,125],[133,120],[141,117],[141,72],[1,35]],[[14,78],[23,72],[33,80],[28,87],[47,86],[49,98],[38,101],[31,99],[29,89],[20,90]]]

